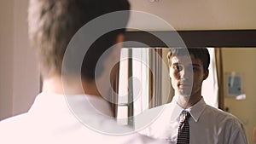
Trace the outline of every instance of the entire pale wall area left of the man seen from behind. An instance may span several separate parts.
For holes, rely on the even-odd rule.
[[[31,107],[39,92],[39,72],[27,34],[27,0],[0,2],[0,119]]]

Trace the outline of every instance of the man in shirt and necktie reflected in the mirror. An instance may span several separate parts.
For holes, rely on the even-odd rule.
[[[239,120],[230,113],[208,106],[201,95],[201,85],[209,72],[208,50],[174,48],[168,54],[168,61],[175,96],[171,103],[153,108],[153,111],[163,108],[163,112],[142,133],[173,144],[180,141],[246,144],[247,137]]]

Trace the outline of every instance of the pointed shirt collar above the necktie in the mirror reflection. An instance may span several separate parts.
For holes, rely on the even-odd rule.
[[[198,101],[194,106],[189,107],[188,109],[183,109],[183,107],[180,107],[175,100],[176,96],[172,98],[172,102],[170,103],[170,107],[172,107],[171,121],[178,120],[180,113],[183,110],[186,110],[190,113],[191,117],[195,120],[195,122],[197,122],[201,116],[201,113],[206,108],[206,102],[203,100],[203,98],[201,98],[200,101]]]

